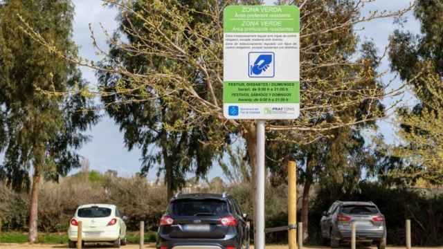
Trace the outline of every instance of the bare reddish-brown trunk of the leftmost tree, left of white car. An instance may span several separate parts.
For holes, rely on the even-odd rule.
[[[30,191],[30,214],[29,214],[29,236],[28,241],[35,243],[37,241],[37,220],[38,220],[38,199],[39,199],[39,185],[42,176],[40,172],[35,169],[33,176],[33,186]]]

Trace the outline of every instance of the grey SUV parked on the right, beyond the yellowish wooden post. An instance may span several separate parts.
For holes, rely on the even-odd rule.
[[[356,223],[356,241],[375,243],[377,248],[386,248],[385,216],[377,205],[370,202],[336,201],[323,212],[320,227],[322,243],[332,248],[340,242],[351,240],[351,224]]]

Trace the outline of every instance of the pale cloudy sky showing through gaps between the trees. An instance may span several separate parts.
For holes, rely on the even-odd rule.
[[[308,0],[309,1],[309,0]],[[368,3],[363,9],[363,15],[370,10],[398,10],[408,6],[409,0],[378,0],[374,3]],[[102,33],[100,23],[105,29],[112,33],[117,28],[115,21],[116,11],[111,8],[102,7],[100,0],[73,0],[75,4],[75,19],[74,19],[74,39],[80,46],[80,55],[97,61],[100,59],[96,56],[92,46],[91,34],[89,33],[89,24],[92,24],[95,30],[96,37],[98,37],[99,46],[107,48],[105,42],[105,35]],[[267,0],[266,4],[273,3],[273,0]],[[411,30],[413,33],[419,33],[419,24],[413,18],[412,13],[407,15],[408,22],[405,28]],[[357,27],[358,30],[361,27]],[[373,39],[374,43],[379,48],[379,53],[384,51],[388,45],[388,37],[392,30],[399,28],[393,24],[393,19],[379,19],[365,24],[365,29],[357,31],[362,40]],[[380,71],[387,71],[389,68],[388,61],[383,60]],[[94,72],[89,68],[81,68],[84,78],[91,84],[96,84],[97,80]],[[383,77],[383,81],[387,82],[394,75],[389,74]],[[301,95],[303,93],[300,93]],[[302,100],[302,98],[301,98]],[[410,98],[406,98],[404,104],[410,104]],[[388,102],[386,102],[388,103]],[[380,132],[383,133],[390,142],[395,142],[397,139],[394,136],[395,127],[389,121],[381,121]],[[123,142],[123,134],[120,133],[118,125],[107,116],[103,116],[101,121],[89,131],[92,136],[91,142],[84,145],[80,150],[80,154],[89,158],[91,169],[105,172],[107,169],[114,169],[118,171],[120,176],[132,176],[140,169],[141,151],[134,148],[132,151],[127,151]],[[220,175],[220,169],[214,165],[210,171],[209,178]],[[156,174],[156,169],[150,172],[150,178],[153,179]]]

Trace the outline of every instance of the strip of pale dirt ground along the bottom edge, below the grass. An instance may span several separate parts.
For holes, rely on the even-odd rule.
[[[53,249],[53,248],[68,248],[67,245],[57,244],[57,245],[48,245],[48,244],[37,244],[37,245],[30,245],[30,244],[0,244],[1,249]],[[87,245],[84,248],[111,248],[107,245]],[[128,246],[122,246],[122,249],[138,249],[138,245],[128,245]],[[147,243],[145,245],[145,248],[155,248],[154,243]],[[266,249],[287,249],[287,245],[282,246],[266,246]],[[307,249],[326,249],[327,247],[321,247],[321,246],[306,246]],[[358,247],[359,249],[377,249],[375,247]],[[251,247],[251,249],[253,249]],[[346,248],[348,249],[348,248]],[[404,249],[404,247],[387,247],[387,249]],[[425,249],[425,248],[413,248],[413,249]],[[443,249],[443,247],[433,247],[433,249]]]

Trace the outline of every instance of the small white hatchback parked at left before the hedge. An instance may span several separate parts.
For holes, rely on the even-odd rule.
[[[82,243],[111,242],[114,248],[126,244],[126,216],[120,216],[116,205],[80,205],[69,222],[69,248],[75,248],[78,222],[82,221]]]

